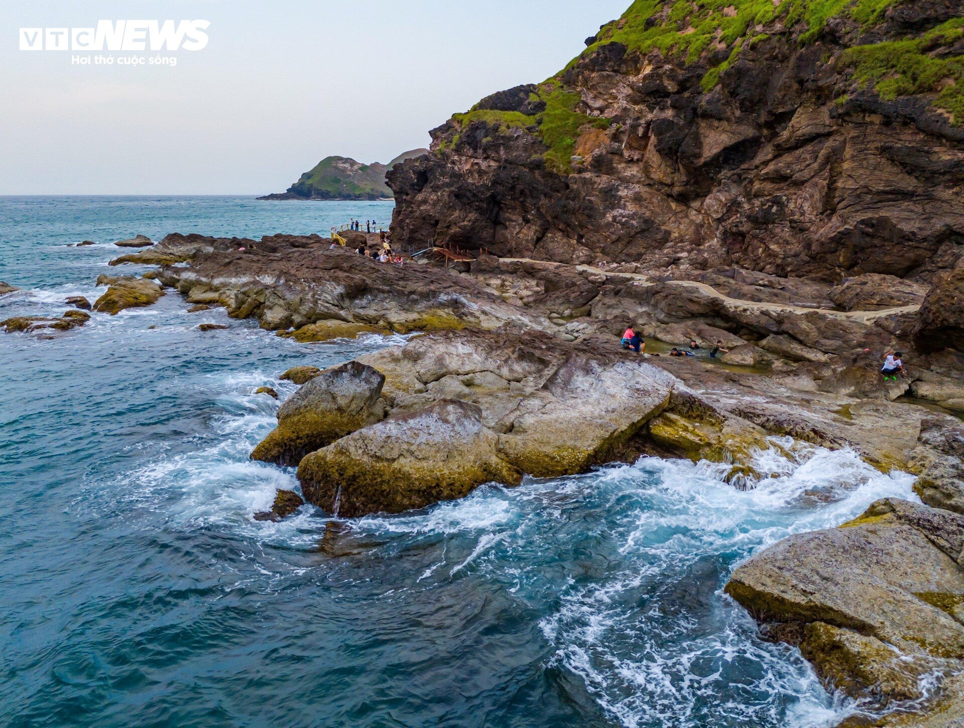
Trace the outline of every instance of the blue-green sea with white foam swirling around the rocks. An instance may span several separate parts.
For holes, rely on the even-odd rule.
[[[327,234],[391,202],[0,197],[0,320],[92,301],[113,241]],[[94,246],[73,247],[92,240]],[[124,267],[123,273],[143,268]],[[749,490],[645,457],[393,516],[256,522],[279,376],[404,343],[299,344],[174,292],[0,332],[0,724],[817,728],[863,707],[723,591],[791,533],[912,479],[780,441]],[[203,333],[201,323],[224,330]]]

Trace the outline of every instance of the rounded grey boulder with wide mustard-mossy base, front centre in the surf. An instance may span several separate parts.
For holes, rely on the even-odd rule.
[[[309,503],[344,516],[398,513],[463,498],[522,473],[496,454],[481,409],[443,400],[394,414],[306,456],[298,480]]]

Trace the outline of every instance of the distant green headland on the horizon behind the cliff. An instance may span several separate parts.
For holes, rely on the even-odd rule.
[[[386,199],[393,193],[385,181],[386,172],[407,159],[428,154],[428,149],[413,149],[391,160],[363,165],[348,157],[325,157],[308,170],[287,192],[258,199]]]

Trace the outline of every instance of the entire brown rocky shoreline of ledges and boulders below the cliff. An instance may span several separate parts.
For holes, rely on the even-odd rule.
[[[948,346],[962,321],[942,302],[957,276],[831,285],[489,255],[446,271],[283,235],[170,235],[115,263],[159,263],[148,278],[189,303],[299,341],[419,334],[287,373],[302,386],[252,454],[297,467],[305,500],[343,517],[641,455],[724,462],[733,487],[755,487],[770,474],[754,455],[796,441],[918,476],[924,505],[880,502],[840,529],[793,536],[738,567],[727,591],[765,635],[798,645],[829,688],[870,701],[877,717],[848,726],[957,719],[964,423],[952,413],[964,409],[964,360]],[[628,324],[663,355],[624,351]],[[698,355],[665,355],[691,341]],[[717,341],[729,351],[710,359]],[[885,382],[891,348],[905,351],[909,376]],[[297,499],[281,493],[257,517],[281,518]]]

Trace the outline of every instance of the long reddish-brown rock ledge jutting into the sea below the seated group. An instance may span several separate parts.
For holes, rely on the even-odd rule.
[[[170,241],[170,242],[168,242]],[[437,331],[508,323],[549,326],[477,281],[430,266],[379,263],[317,237],[261,241],[167,236],[148,251],[171,263],[157,273],[192,303],[219,303],[233,318],[296,339],[324,340],[359,332]],[[143,253],[138,253],[143,255]],[[139,259],[129,262],[151,262]]]

